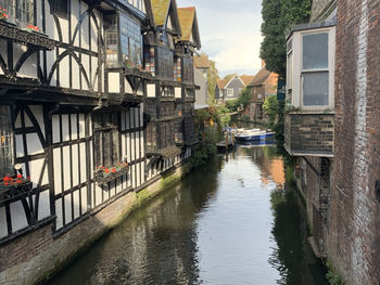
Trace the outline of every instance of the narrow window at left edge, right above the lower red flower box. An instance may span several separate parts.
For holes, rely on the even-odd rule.
[[[0,105],[0,178],[14,174],[11,111]]]

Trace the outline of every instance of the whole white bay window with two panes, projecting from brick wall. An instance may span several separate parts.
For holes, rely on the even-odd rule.
[[[294,107],[333,108],[335,28],[293,31],[288,40],[287,90]]]

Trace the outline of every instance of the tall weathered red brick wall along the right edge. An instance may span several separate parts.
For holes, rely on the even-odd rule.
[[[380,1],[338,0],[335,166],[328,255],[346,284],[379,284]]]

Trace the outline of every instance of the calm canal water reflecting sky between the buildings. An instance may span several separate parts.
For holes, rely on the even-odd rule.
[[[324,285],[273,146],[239,147],[136,210],[49,284]]]

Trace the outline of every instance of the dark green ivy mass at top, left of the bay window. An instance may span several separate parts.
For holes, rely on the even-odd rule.
[[[261,57],[266,68],[286,78],[286,36],[293,25],[307,23],[312,0],[263,0]]]

